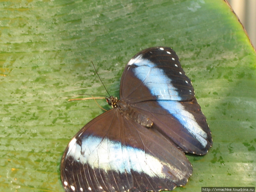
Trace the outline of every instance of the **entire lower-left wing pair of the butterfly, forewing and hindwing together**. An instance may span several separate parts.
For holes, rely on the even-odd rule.
[[[61,161],[66,191],[159,191],[185,185],[192,167],[185,154],[156,129],[119,110],[85,125]]]

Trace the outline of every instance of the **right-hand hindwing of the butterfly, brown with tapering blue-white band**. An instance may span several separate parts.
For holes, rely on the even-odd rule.
[[[146,114],[154,122],[153,128],[170,138],[184,152],[206,154],[212,145],[211,133],[196,100],[183,102],[185,108],[179,108],[180,103],[177,101],[161,102],[166,109],[155,101],[139,102],[131,106]]]

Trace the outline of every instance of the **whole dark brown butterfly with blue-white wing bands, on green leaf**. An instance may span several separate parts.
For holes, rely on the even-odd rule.
[[[173,190],[192,175],[184,153],[204,155],[211,132],[172,48],[152,47],[126,65],[120,100],[86,124],[61,159],[65,191]]]

